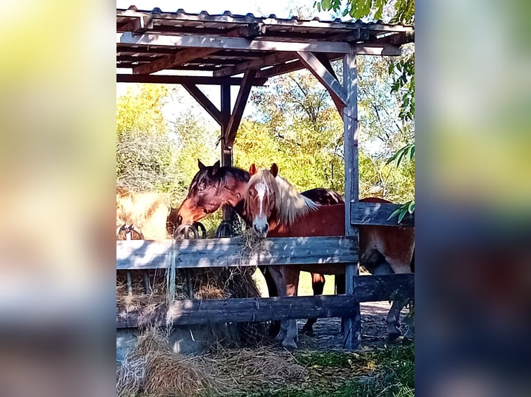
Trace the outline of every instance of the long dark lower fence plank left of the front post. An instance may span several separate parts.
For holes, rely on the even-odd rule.
[[[166,324],[166,315],[173,319],[173,325],[341,317],[353,315],[355,299],[353,295],[187,299],[175,301],[169,310],[161,307],[127,312],[116,308],[116,328]]]

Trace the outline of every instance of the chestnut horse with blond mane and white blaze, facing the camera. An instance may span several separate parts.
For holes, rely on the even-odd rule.
[[[286,179],[278,176],[278,167],[256,170],[250,168],[245,203],[247,216],[259,237],[317,237],[345,235],[345,203],[319,205],[302,196]],[[390,203],[374,197],[362,199],[369,203]],[[359,261],[372,274],[411,273],[410,264],[415,248],[415,230],[398,226],[359,226]],[[345,274],[345,266],[334,264],[304,266],[270,266],[279,296],[297,296],[299,272]],[[388,313],[388,335],[397,338],[399,314],[405,302],[394,301]],[[348,330],[347,330],[348,331]],[[281,322],[277,340],[288,349],[297,347],[297,323]]]

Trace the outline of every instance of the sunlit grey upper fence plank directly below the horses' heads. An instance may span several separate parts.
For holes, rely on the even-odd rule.
[[[261,241],[252,255],[242,239],[116,241],[116,270],[166,268],[175,253],[176,268],[345,264],[358,261],[355,237],[291,237]]]

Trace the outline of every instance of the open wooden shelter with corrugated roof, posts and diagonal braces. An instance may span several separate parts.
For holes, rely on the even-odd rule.
[[[329,91],[345,125],[345,225],[355,249],[349,246],[345,248],[346,256],[337,255],[331,260],[349,263],[347,295],[353,296],[354,279],[358,278],[354,277],[358,275],[356,224],[396,223],[388,221],[394,206],[358,202],[356,55],[401,55],[401,46],[413,39],[412,26],[381,21],[279,19],[275,15],[233,15],[229,11],[222,15],[205,11],[190,14],[184,10],[162,12],[159,8],[142,11],[131,6],[116,10],[116,68],[127,71],[117,74],[116,82],[182,84],[220,124],[222,164],[232,165],[234,139],[252,86],[263,85],[275,75],[308,68]],[[331,67],[331,62],[338,59],[343,61],[342,82]],[[220,109],[198,88],[201,84],[220,86]],[[234,109],[231,86],[240,87]],[[224,217],[229,216],[225,209]],[[412,219],[409,222],[412,224]],[[289,263],[280,254],[268,260],[270,264]],[[120,266],[131,268],[123,260]],[[360,342],[359,299],[352,302],[354,311],[349,311],[347,329],[354,332],[349,333],[347,346],[355,348]]]

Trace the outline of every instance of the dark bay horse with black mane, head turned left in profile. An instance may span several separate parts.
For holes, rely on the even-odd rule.
[[[171,212],[168,222],[175,225],[192,224],[218,210],[221,205],[228,204],[250,226],[250,218],[245,213],[245,201],[243,198],[250,178],[249,173],[236,167],[220,167],[219,161],[214,165],[206,166],[198,160],[198,167],[199,171],[192,179],[186,198],[178,211]],[[328,189],[315,188],[302,192],[302,194],[322,205],[343,202],[338,193]],[[277,287],[269,272],[264,268],[261,268],[261,270],[268,286],[269,296],[277,296]],[[344,285],[345,281],[338,279],[338,286],[342,284]],[[313,294],[322,295],[323,289],[324,276],[320,273],[312,273]],[[313,324],[316,321],[316,319],[308,319],[302,328],[302,332],[312,334]]]

